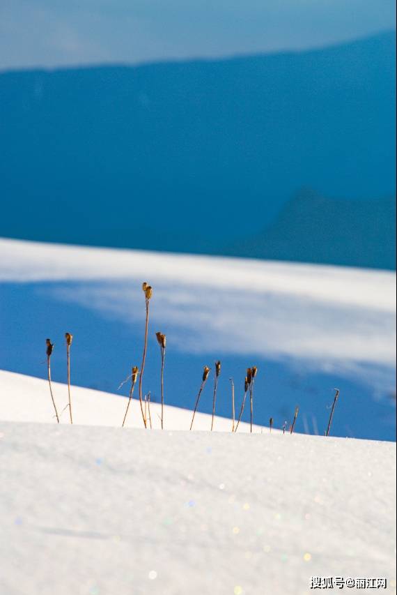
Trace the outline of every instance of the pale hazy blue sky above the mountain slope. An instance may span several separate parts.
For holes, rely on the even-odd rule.
[[[395,19],[393,0],[2,0],[0,69],[299,50]]]

